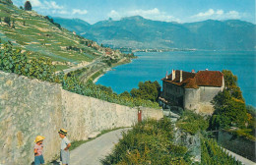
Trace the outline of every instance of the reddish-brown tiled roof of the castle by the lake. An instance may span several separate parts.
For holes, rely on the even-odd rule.
[[[182,81],[180,76],[182,72]],[[175,79],[172,80],[172,74],[175,74]],[[221,87],[223,85],[224,74],[220,71],[199,71],[197,73],[190,73],[176,70],[161,81],[166,83],[173,83],[183,86],[184,88],[198,88],[199,86],[214,86]]]

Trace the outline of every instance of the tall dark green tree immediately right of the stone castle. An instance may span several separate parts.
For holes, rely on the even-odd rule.
[[[237,77],[231,71],[224,70],[225,89],[217,94],[212,103],[215,112],[211,118],[210,128],[228,129],[231,126],[244,128],[248,123],[248,115],[242,92],[237,86]]]

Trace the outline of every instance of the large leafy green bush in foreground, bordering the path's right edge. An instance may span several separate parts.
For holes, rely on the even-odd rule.
[[[189,164],[190,162],[185,160],[187,148],[175,145],[171,141],[172,138],[173,128],[168,119],[143,121],[127,134],[123,134],[123,138],[113,152],[101,163],[104,165]]]

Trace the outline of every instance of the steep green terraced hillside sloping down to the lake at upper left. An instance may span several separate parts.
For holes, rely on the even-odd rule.
[[[25,11],[12,5],[11,1],[0,1],[1,42],[10,42],[21,47],[30,57],[48,57],[57,70],[86,66],[96,63],[102,68],[101,59],[124,60],[123,54],[100,47],[93,40],[77,35],[73,31],[54,23],[52,19]]]

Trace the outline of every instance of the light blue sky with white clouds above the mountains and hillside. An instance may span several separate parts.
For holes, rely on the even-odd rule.
[[[18,7],[26,0],[13,0]],[[31,0],[32,10],[44,16],[77,18],[96,24],[124,17],[192,23],[242,20],[256,23],[255,0]]]

